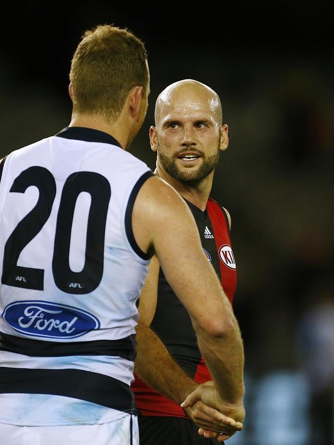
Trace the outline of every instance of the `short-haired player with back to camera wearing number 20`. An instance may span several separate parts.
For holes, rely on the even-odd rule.
[[[69,92],[69,126],[0,164],[0,435],[10,445],[137,444],[136,300],[153,252],[192,317],[222,400],[242,398],[242,342],[213,269],[193,259],[201,247],[196,233],[187,236],[195,228],[187,206],[125,151],[147,110],[142,42],[113,26],[87,31]],[[177,229],[176,213],[183,229],[173,247],[166,231]],[[204,292],[193,298],[196,280],[184,283],[189,268],[207,281],[214,311]],[[236,353],[227,357],[230,343]],[[237,372],[221,377],[225,366]]]

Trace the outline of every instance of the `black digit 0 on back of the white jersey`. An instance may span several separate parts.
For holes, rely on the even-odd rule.
[[[80,272],[69,265],[71,232],[77,199],[82,192],[90,195],[87,221],[85,262]],[[112,191],[109,181],[96,172],[75,172],[68,176],[62,190],[54,235],[52,272],[58,289],[71,294],[93,292],[101,283],[104,265],[105,228]],[[78,287],[70,287],[77,283]]]

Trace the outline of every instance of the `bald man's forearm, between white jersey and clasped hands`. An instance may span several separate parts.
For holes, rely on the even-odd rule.
[[[197,384],[173,360],[149,326],[139,323],[136,330],[136,374],[160,394],[180,404]]]

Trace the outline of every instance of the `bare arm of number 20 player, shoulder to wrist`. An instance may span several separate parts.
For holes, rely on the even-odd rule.
[[[202,253],[187,205],[171,187],[153,177],[138,193],[133,229],[144,252],[154,248],[166,280],[188,310],[219,398],[240,403],[244,393],[240,331],[216,273]]]

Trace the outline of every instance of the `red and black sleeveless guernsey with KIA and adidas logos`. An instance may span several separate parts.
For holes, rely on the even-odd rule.
[[[232,304],[236,287],[236,268],[226,212],[211,198],[204,212],[191,202],[185,201],[194,215],[203,253],[214,267],[221,286]],[[161,269],[157,308],[151,328],[189,377],[197,383],[211,380],[209,370],[198,349],[189,314],[166,281]],[[187,417],[177,403],[147,386],[136,374],[132,391],[136,396],[137,409],[144,416]]]

